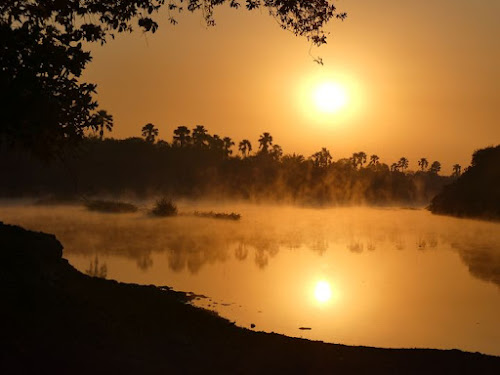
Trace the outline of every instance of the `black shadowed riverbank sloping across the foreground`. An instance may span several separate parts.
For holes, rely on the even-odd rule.
[[[292,339],[182,293],[86,276],[52,235],[0,222],[0,374],[500,374],[500,357]]]

